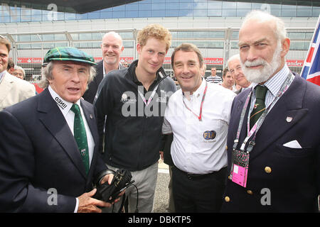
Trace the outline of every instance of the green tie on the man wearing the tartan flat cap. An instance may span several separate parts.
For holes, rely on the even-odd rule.
[[[73,104],[71,111],[75,113],[73,134],[78,144],[82,162],[85,165],[85,172],[89,172],[89,149],[87,147],[87,133],[85,133],[85,123],[83,123],[78,104]]]

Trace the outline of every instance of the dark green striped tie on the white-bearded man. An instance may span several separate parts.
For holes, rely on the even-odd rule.
[[[265,86],[257,85],[257,87],[255,87],[255,106],[253,106],[250,115],[250,129],[265,111],[265,95],[267,94],[267,90]]]

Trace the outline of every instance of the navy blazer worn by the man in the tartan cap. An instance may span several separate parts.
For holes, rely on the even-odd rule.
[[[81,106],[95,141],[88,175],[48,89],[0,112],[0,211],[73,212],[75,198],[92,189],[106,167],[97,152],[93,106],[84,100]],[[48,202],[52,189],[58,193],[56,205]]]

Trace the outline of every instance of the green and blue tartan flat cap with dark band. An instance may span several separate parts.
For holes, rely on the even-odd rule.
[[[91,55],[71,47],[53,48],[49,50],[43,59],[43,65],[48,64],[48,62],[52,60],[85,62],[89,65],[97,65]]]

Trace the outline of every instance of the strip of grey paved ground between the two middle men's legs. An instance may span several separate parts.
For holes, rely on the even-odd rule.
[[[168,165],[159,160],[158,179],[154,198],[154,213],[164,213],[169,202],[169,170]]]

